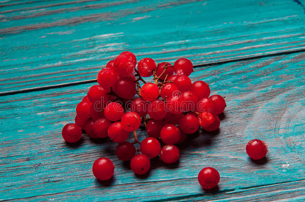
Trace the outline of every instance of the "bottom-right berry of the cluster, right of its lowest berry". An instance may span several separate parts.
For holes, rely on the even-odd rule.
[[[179,149],[174,145],[165,145],[161,148],[160,159],[166,164],[178,161],[180,157]]]

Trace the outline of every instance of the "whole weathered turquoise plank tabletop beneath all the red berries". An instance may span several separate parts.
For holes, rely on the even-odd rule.
[[[0,200],[305,201],[304,5],[1,0]],[[123,50],[138,60],[189,58],[191,79],[227,103],[218,133],[189,137],[178,164],[153,159],[142,178],[118,161],[116,144],[84,135],[67,145],[60,134],[96,73]],[[262,161],[245,154],[254,138],[268,145]],[[91,173],[102,156],[115,164],[107,183]],[[221,177],[212,192],[197,183],[207,166]]]

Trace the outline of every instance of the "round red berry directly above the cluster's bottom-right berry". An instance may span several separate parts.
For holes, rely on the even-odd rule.
[[[181,131],[175,125],[167,124],[163,126],[160,132],[160,138],[164,144],[176,144],[181,137]]]

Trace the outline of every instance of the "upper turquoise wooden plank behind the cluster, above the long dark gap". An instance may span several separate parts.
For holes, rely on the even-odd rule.
[[[123,50],[138,59],[188,57],[194,64],[305,50],[305,15],[298,2],[77,0],[3,6],[0,91],[93,79]]]

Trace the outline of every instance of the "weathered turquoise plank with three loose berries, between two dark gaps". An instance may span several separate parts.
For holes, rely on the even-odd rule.
[[[304,69],[302,53],[197,69],[192,80],[203,79],[212,93],[225,95],[227,108],[220,130],[190,136],[180,147],[178,164],[168,166],[154,159],[144,178],[135,177],[128,164],[117,160],[115,144],[108,140],[92,141],[84,136],[79,144],[67,145],[61,139],[62,126],[73,121],[74,108],[91,84],[2,96],[0,200],[60,199],[65,195],[101,201],[132,200],[134,196],[143,200],[210,199],[196,182],[199,170],[206,166],[219,171],[220,193],[303,183]],[[138,133],[140,139],[145,137],[144,132]],[[245,154],[245,144],[254,138],[269,146],[265,161],[252,162]],[[101,156],[115,164],[110,187],[96,182],[91,174],[92,163]],[[302,197],[303,190],[297,195],[295,189],[293,197]],[[280,195],[274,199],[281,199]]]

